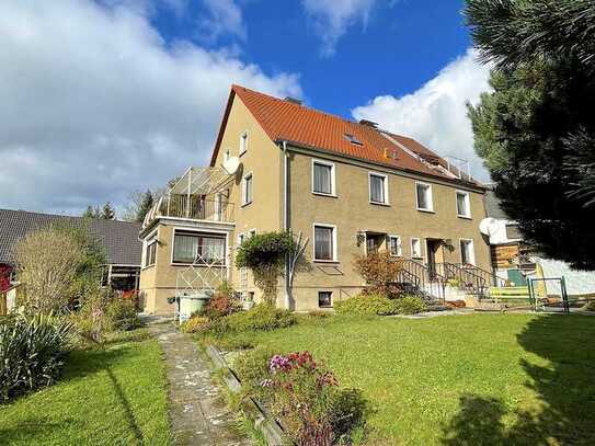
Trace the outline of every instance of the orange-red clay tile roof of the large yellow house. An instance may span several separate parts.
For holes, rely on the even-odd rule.
[[[242,100],[264,131],[275,142],[286,140],[297,146],[325,150],[339,156],[386,164],[399,170],[461,182],[461,180],[449,175],[445,169],[435,169],[431,163],[421,161],[419,157],[425,160],[434,160],[434,163],[438,162],[444,168],[447,167],[445,160],[412,138],[343,119],[339,116],[273,98],[240,85],[231,87],[224,121],[213,152],[211,165],[217,159],[222,133],[236,95]],[[353,135],[362,145],[350,142],[345,137],[346,134]],[[408,153],[402,147],[409,149],[410,152]],[[411,152],[419,157],[411,155]],[[470,182],[476,186],[480,185],[473,179],[469,180],[464,182],[467,184]]]

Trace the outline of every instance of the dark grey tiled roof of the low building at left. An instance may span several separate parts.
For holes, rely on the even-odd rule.
[[[84,225],[103,245],[107,262],[140,265],[140,224],[117,220],[84,219],[25,210],[0,209],[0,263],[14,263],[14,245],[27,232],[53,224]]]

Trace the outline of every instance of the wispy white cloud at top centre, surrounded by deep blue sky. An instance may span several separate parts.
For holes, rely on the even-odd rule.
[[[354,24],[366,27],[376,0],[302,0],[314,31],[322,39],[322,56],[332,56],[336,43]]]

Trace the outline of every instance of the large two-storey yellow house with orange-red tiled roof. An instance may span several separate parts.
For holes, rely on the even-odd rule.
[[[188,169],[147,216],[141,299],[149,312],[173,311],[176,290],[221,278],[259,298],[233,258],[244,238],[265,231],[309,239],[309,268],[291,289],[279,279],[277,304],[296,310],[358,293],[354,258],[369,251],[411,260],[411,274],[490,270],[483,194],[411,138],[233,85],[210,165]]]

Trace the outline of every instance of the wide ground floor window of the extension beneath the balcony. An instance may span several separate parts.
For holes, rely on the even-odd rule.
[[[173,239],[173,263],[225,264],[226,236],[176,230]]]

